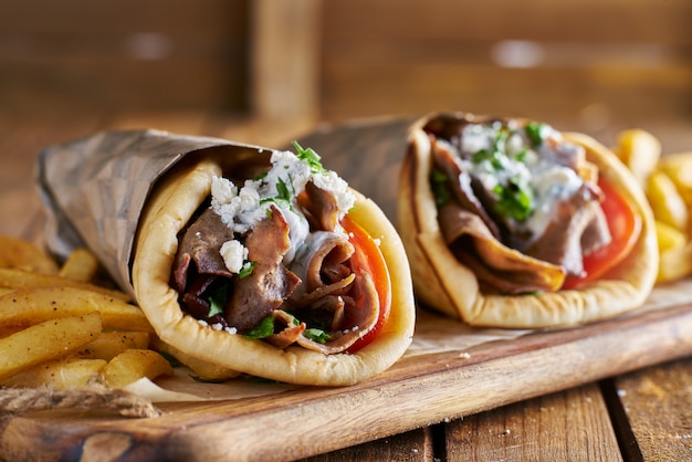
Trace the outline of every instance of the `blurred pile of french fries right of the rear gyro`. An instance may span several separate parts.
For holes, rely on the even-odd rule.
[[[662,154],[647,130],[620,132],[614,151],[641,185],[653,217],[659,244],[658,282],[692,274],[692,151]]]

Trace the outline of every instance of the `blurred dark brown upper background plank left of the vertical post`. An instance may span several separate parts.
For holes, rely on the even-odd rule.
[[[245,0],[11,0],[0,15],[0,101],[27,114],[247,111],[248,14]]]

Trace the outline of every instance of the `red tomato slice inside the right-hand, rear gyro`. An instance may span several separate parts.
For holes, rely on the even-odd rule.
[[[641,217],[608,181],[599,180],[605,199],[600,207],[608,220],[612,241],[584,258],[583,277],[567,277],[563,288],[575,288],[577,285],[602,276],[608,270],[620,263],[632,250],[641,233]]]

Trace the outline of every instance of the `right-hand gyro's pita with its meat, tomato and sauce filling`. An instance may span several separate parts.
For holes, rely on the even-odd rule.
[[[658,269],[651,210],[593,138],[434,114],[410,129],[398,228],[417,297],[471,325],[551,327],[636,308]]]

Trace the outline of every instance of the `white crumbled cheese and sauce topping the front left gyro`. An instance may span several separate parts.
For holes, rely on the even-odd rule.
[[[241,188],[227,178],[213,177],[211,207],[223,223],[238,234],[248,232],[256,222],[266,218],[270,207],[276,207],[289,223],[291,249],[284,256],[284,262],[290,264],[310,234],[310,224],[296,200],[307,182],[312,181],[317,188],[334,195],[338,220],[353,208],[355,196],[348,189],[348,183],[336,172],[315,169],[289,150],[273,151],[270,161],[272,168],[266,175],[245,180]],[[238,241],[224,243],[221,252],[229,271],[238,273],[241,255],[239,245],[242,244],[232,242]],[[243,260],[247,258],[245,249]]]

